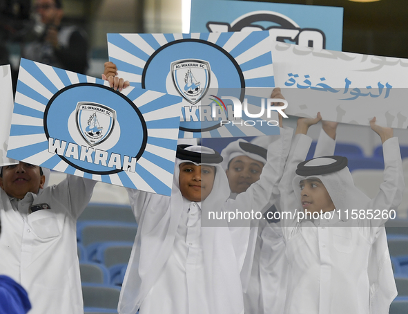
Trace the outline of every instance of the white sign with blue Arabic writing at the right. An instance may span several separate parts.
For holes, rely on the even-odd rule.
[[[286,113],[384,127],[408,127],[408,59],[342,53],[275,42],[276,84]]]

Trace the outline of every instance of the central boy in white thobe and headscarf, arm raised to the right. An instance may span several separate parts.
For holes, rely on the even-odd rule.
[[[211,211],[259,211],[269,203],[271,193],[278,192],[276,187],[291,142],[291,131],[281,129],[281,134],[280,140],[269,147],[265,175],[235,201],[226,202],[229,185],[219,164],[222,158],[212,157],[220,155],[206,147],[177,148],[170,198],[129,190],[139,228],[122,286],[119,313],[133,314],[138,308],[141,314],[244,313],[240,272],[249,245],[250,220],[244,221],[244,228],[231,227],[226,221],[211,221],[216,226],[206,227],[201,223]],[[202,167],[205,172],[208,167],[215,169],[209,194],[208,185],[198,177],[192,182],[205,184],[205,195],[192,198],[182,189],[184,165],[188,164]]]

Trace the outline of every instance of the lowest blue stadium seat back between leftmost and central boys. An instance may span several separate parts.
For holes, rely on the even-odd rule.
[[[82,284],[84,308],[117,309],[120,288],[105,284]]]

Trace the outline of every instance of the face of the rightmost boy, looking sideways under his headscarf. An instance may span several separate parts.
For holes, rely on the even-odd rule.
[[[307,209],[308,212],[330,212],[335,209],[329,192],[318,178],[302,180],[299,185],[304,210]]]

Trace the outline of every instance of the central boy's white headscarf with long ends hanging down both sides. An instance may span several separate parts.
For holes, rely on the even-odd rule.
[[[184,147],[185,151],[214,154],[213,149],[201,146]],[[177,157],[179,157],[177,149]],[[219,156],[219,155],[218,155]],[[171,255],[175,234],[183,208],[183,196],[179,190],[179,165],[211,165],[216,168],[213,189],[202,201],[202,215],[206,210],[222,210],[229,197],[229,184],[220,164],[208,163],[202,158],[197,163],[182,157],[175,160],[175,172],[171,197],[149,195],[148,210],[142,216],[142,224],[135,239],[124,284],[119,299],[120,313],[135,313],[142,304],[159,272]],[[202,246],[206,272],[206,292],[210,297],[208,307],[211,313],[242,313],[242,287],[231,234],[228,226],[202,227]],[[159,302],[159,300],[157,300]]]

